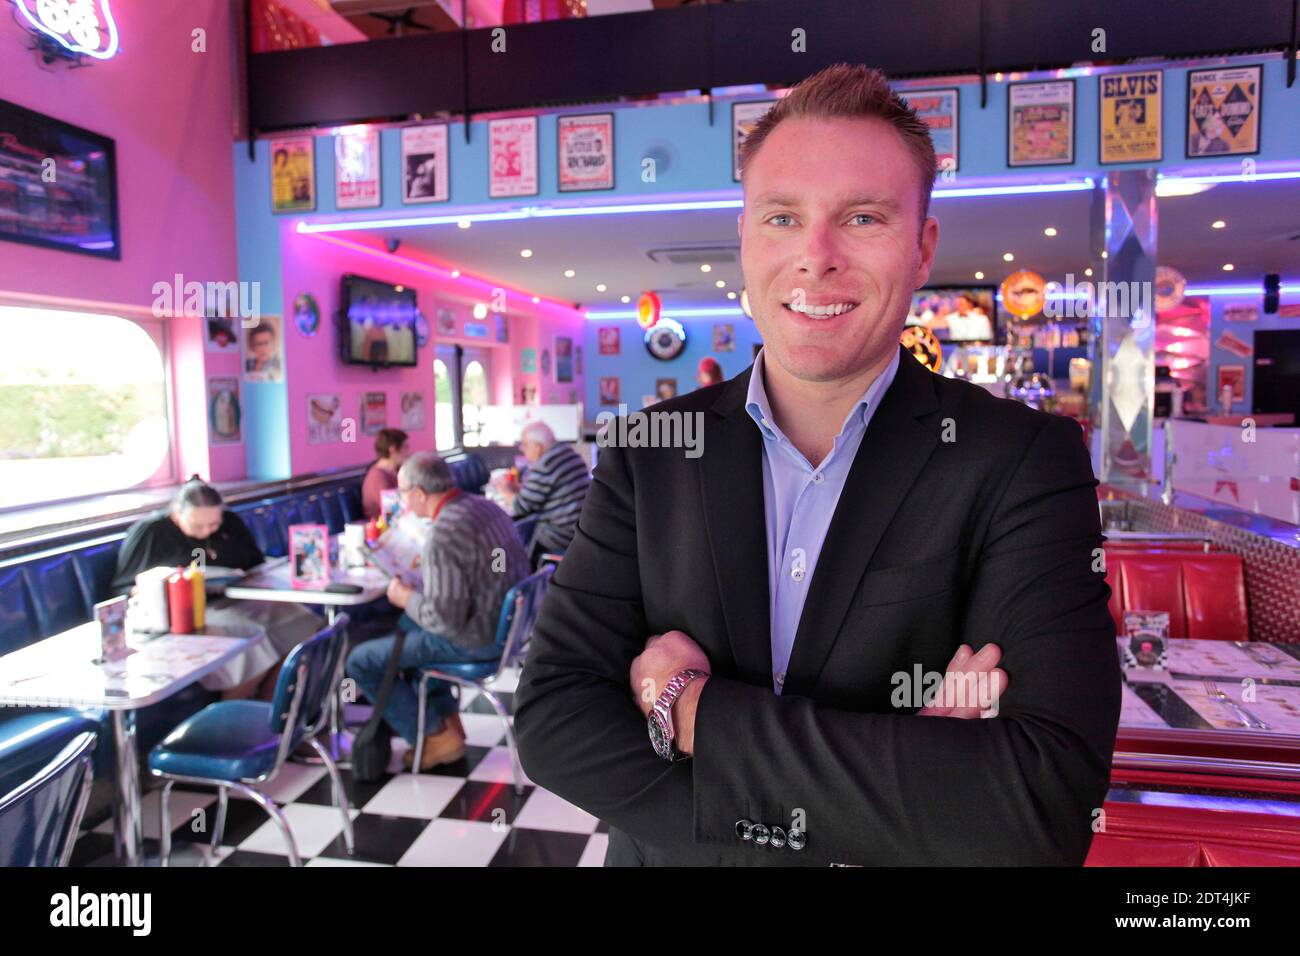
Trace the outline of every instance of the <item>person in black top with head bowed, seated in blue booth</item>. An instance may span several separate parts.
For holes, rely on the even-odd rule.
[[[127,594],[135,587],[135,575],[151,567],[188,566],[203,557],[205,566],[233,567],[242,571],[263,562],[261,549],[239,515],[226,511],[217,489],[192,476],[172,499],[168,511],[136,522],[117,551],[113,575],[114,594]],[[325,622],[296,604],[280,601],[209,601],[205,624],[247,627],[255,624],[266,636],[243,654],[200,679],[209,691],[220,691],[225,700],[257,696],[270,700],[280,675],[280,665],[295,645],[325,627]]]

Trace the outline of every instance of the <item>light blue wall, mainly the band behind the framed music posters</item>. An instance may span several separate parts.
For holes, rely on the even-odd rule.
[[[1258,164],[1270,161],[1295,163],[1300,157],[1300,85],[1286,88],[1286,64],[1269,60],[1264,64],[1261,152],[1252,157]],[[1143,69],[1135,65],[1134,70]],[[1232,172],[1243,157],[1219,157],[1217,160],[1187,160],[1184,157],[1187,129],[1187,68],[1167,68],[1164,70],[1164,118],[1165,144],[1164,160],[1158,164],[1127,164],[1128,166],[1158,165],[1165,169],[1216,168],[1217,172]],[[928,87],[953,86],[936,81]],[[979,85],[961,85],[959,107],[959,166],[956,182],[963,179],[1036,181],[1044,177],[1060,177],[1062,173],[1074,176],[1096,176],[1112,168],[1097,161],[1097,86],[1098,77],[1080,75],[1075,78],[1075,161],[1061,166],[1034,166],[1013,169],[1006,165],[1006,100],[1008,85],[989,82],[988,104],[979,105]],[[762,94],[738,98],[741,100],[768,99]],[[384,172],[382,207],[369,211],[348,211],[348,216],[370,217],[377,212],[404,215],[437,215],[459,211],[462,207],[500,206],[514,208],[546,200],[586,200],[604,202],[629,198],[645,198],[660,194],[692,194],[706,191],[733,191],[738,186],[732,181],[731,143],[731,104],[718,101],[712,108],[712,125],[708,122],[707,104],[689,103],[679,105],[627,105],[627,107],[585,107],[567,112],[612,112],[615,114],[615,189],[603,193],[566,193],[555,189],[555,114],[547,113],[538,124],[538,196],[520,199],[488,198],[488,129],[485,121],[471,125],[472,142],[465,143],[464,127],[459,122],[448,126],[451,202],[421,206],[403,206],[400,185],[400,131],[384,130],[381,134],[381,165]],[[656,151],[668,157],[667,164],[658,166],[655,182],[641,178],[641,159],[647,151]],[[239,204],[239,267],[240,278],[260,280],[263,302],[280,302],[280,219],[270,212],[270,176],[268,168],[266,142],[257,146],[257,160],[250,164],[246,144],[235,147],[237,196]],[[338,215],[334,207],[334,156],[333,138],[321,137],[316,142],[316,193],[317,212],[295,219],[316,220]],[[1283,276],[1284,282],[1294,282],[1296,276]],[[703,303],[701,303],[703,304]],[[715,303],[708,303],[715,304]],[[686,354],[672,363],[659,363],[646,355],[641,345],[641,334],[632,321],[623,323],[623,358],[628,364],[619,368],[624,377],[624,397],[628,405],[640,403],[644,393],[653,390],[654,378],[672,375],[679,378],[679,388],[685,390],[694,381],[694,365],[699,358],[708,354],[711,345],[711,325],[714,320],[686,320],[689,345]],[[749,364],[749,342],[754,341],[751,323],[742,315],[732,321],[736,326],[737,347],[734,352],[718,355],[725,373],[729,376]],[[589,323],[585,336],[585,355],[590,363],[586,378],[588,408],[598,410],[598,381],[602,369],[610,365],[602,362],[595,347],[594,326]],[[748,338],[746,338],[748,337]],[[744,359],[744,364],[737,367]],[[1212,369],[1213,371],[1213,369]],[[1212,378],[1213,388],[1213,378]],[[248,467],[259,477],[276,477],[287,473],[289,442],[282,424],[285,416],[285,390],[282,385],[260,386],[250,390],[246,399],[250,405]]]

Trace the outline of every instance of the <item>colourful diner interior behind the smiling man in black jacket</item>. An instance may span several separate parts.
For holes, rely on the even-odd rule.
[[[1074,419],[1092,454],[1124,683],[1087,865],[1300,865],[1290,4],[1008,27],[1026,7],[988,0],[939,39],[852,0],[94,7],[88,35],[0,0],[0,862],[602,865],[607,823],[528,779],[512,731],[564,562],[520,489],[556,446],[589,480],[610,415],[753,364],[736,144],[850,61],[927,103],[940,153],[906,351]],[[1093,21],[1113,52],[1061,39]],[[1117,146],[1105,83],[1136,73],[1160,121]],[[1034,85],[1067,153],[1009,139]],[[1206,146],[1193,100],[1225,85],[1240,108]],[[1131,307],[1093,294],[1119,287]],[[494,653],[408,675],[417,743],[361,774],[354,744],[390,728],[350,662],[395,630],[384,542],[421,451],[511,516],[529,568]],[[133,564],[178,501],[238,516],[259,561]],[[214,682],[290,620],[260,683]],[[425,713],[428,682],[452,710]],[[439,719],[460,745],[425,767]]]

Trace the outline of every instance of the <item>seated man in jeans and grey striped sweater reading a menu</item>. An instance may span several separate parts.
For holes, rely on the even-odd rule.
[[[402,509],[429,522],[421,561],[421,587],[396,578],[389,581],[389,601],[403,609],[398,627],[406,633],[399,657],[402,670],[426,663],[494,661],[497,620],[506,593],[528,575],[528,555],[515,525],[497,505],[478,494],[463,494],[451,468],[434,451],[417,451],[398,471]],[[365,696],[377,698],[395,635],[354,648],[347,674]],[[415,745],[417,678],[398,680],[389,693],[384,719]],[[429,685],[429,722],[425,726],[421,770],[452,763],[465,754],[465,731],[456,698],[441,680]],[[406,762],[413,762],[413,750]]]

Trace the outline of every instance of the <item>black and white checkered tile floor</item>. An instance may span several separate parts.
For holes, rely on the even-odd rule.
[[[517,671],[494,689],[511,702]],[[469,750],[465,758],[419,775],[402,769],[407,744],[393,741],[389,774],[358,784],[343,769],[351,803],[356,852],[343,845],[343,821],[330,796],[322,766],[290,762],[263,786],[280,804],[308,866],[599,866],[604,860],[606,826],[525,779],[515,793],[510,750],[500,718],[477,692],[465,692],[462,722]],[[348,709],[348,722],[364,719],[368,708]],[[159,852],[159,790],[144,796],[144,852]],[[216,822],[216,792],[172,793],[173,866],[287,866],[289,851],[280,830],[251,800],[231,792],[221,845],[208,845]],[[73,865],[112,865],[112,821],[83,832]]]

